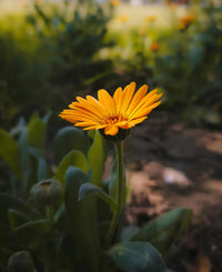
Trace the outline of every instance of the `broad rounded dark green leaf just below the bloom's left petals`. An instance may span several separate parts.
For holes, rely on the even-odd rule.
[[[56,163],[58,164],[72,150],[79,150],[87,154],[89,148],[90,140],[80,129],[74,127],[62,128],[54,138]]]

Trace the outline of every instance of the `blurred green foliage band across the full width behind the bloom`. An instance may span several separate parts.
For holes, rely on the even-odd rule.
[[[199,4],[185,13],[191,20],[182,23],[172,9],[167,28],[157,22],[158,14],[129,28],[118,22],[109,2],[95,1],[37,2],[23,13],[3,16],[1,123],[10,128],[33,109],[59,111],[83,89],[113,90],[134,80],[159,87],[168,110],[220,127],[222,8]]]

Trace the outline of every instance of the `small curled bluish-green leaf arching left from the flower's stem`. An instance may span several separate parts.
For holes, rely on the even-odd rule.
[[[79,200],[82,200],[85,197],[91,195],[91,194],[97,194],[98,197],[100,197],[104,202],[107,202],[110,205],[110,208],[112,210],[115,210],[117,209],[117,203],[101,188],[95,187],[94,184],[89,183],[89,182],[88,183],[84,183],[84,184],[82,184],[80,187],[80,190],[79,190]]]

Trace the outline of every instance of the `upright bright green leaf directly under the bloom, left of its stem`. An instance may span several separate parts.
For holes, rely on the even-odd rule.
[[[94,135],[93,144],[88,152],[88,159],[90,169],[92,169],[91,183],[97,187],[103,187],[102,175],[104,171],[105,151],[104,140],[99,131]]]

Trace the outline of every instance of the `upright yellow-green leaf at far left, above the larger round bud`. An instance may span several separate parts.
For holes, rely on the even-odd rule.
[[[28,125],[28,141],[30,145],[44,150],[47,140],[47,123],[38,114],[33,114]]]

